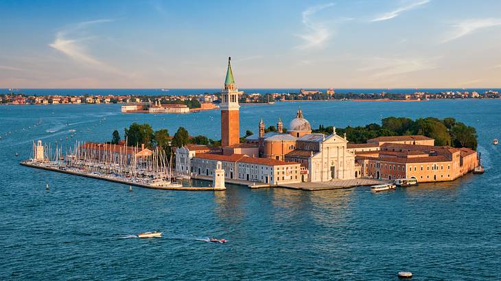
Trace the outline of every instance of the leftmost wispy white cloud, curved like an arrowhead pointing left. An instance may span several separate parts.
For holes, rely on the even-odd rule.
[[[108,23],[110,21],[113,20],[98,19],[95,21],[84,21],[81,23],[77,23],[72,27],[67,27],[66,29],[62,29],[60,32],[56,33],[54,42],[50,43],[49,46],[60,51],[61,53],[64,53],[66,56],[68,56],[75,62],[95,67],[97,66],[105,71],[116,72],[116,70],[113,69],[112,67],[106,65],[104,62],[101,62],[97,58],[94,58],[89,53],[87,53],[84,42],[90,40],[90,38],[79,36],[79,33],[89,25],[95,25],[98,23]]]

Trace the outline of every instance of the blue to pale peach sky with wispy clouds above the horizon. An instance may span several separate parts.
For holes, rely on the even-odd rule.
[[[501,87],[501,1],[0,0],[0,88]]]

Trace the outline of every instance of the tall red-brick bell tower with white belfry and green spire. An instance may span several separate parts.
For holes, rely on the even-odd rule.
[[[221,93],[221,146],[236,145],[240,143],[240,124],[238,105],[238,89],[235,85],[233,71],[231,71],[231,57],[228,58],[226,80]]]

